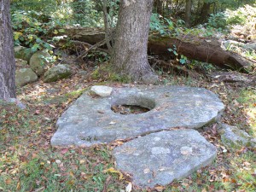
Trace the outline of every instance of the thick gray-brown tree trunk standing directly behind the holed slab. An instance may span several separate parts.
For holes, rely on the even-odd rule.
[[[148,64],[148,31],[153,0],[122,0],[111,63],[133,80],[153,84],[157,76]]]

